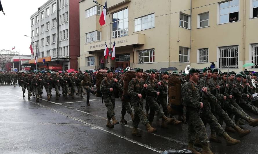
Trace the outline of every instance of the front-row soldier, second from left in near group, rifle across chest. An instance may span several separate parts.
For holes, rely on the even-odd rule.
[[[147,90],[153,93],[155,93],[156,91],[151,86],[148,86],[148,84],[145,84],[144,79],[142,79],[143,69],[137,68],[136,72],[136,77],[132,79],[128,84],[128,95],[130,96],[130,103],[135,111],[134,120],[132,122],[132,135],[141,136],[137,129],[140,121],[143,125],[146,125],[146,129],[149,133],[156,131],[156,129],[150,125],[149,120],[146,117],[145,112],[143,111],[142,98],[142,94],[145,93]],[[142,89],[144,90],[143,92],[141,91]]]

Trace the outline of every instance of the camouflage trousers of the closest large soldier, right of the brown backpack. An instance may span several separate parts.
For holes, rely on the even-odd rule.
[[[197,112],[188,112],[188,142],[195,142],[196,137],[201,143],[207,143],[208,135],[205,125]]]

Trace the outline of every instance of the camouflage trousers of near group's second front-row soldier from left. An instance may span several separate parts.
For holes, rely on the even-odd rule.
[[[137,103],[138,99],[131,99],[131,104],[132,107],[135,111],[134,114],[134,120],[132,122],[132,126],[133,127],[138,127],[140,121],[143,125],[146,125],[147,123],[149,123],[149,120],[147,119],[144,111],[143,111],[143,100],[139,100]]]

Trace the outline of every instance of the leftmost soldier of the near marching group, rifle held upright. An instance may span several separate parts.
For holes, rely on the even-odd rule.
[[[112,87],[114,85],[114,87]],[[107,77],[105,77],[100,84],[100,90],[103,93],[103,100],[105,102],[105,106],[108,109],[107,112],[107,127],[114,128],[114,125],[119,124],[119,122],[115,118],[115,97],[113,94],[113,88],[118,88],[117,85],[117,79],[113,78],[113,71],[108,70],[107,71]],[[110,123],[110,120],[112,118],[113,123]]]

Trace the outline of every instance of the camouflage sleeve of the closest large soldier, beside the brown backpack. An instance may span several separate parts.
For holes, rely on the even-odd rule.
[[[199,100],[192,96],[192,85],[189,82],[186,82],[182,86],[181,95],[183,103],[188,107],[199,108],[201,106]]]

